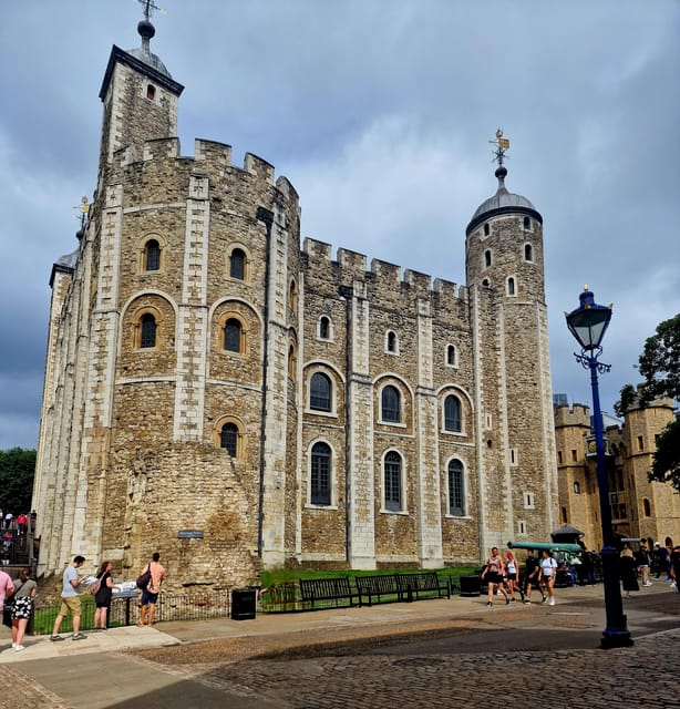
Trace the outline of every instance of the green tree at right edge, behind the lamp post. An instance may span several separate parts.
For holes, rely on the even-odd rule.
[[[680,399],[680,312],[663,320],[657,331],[645,341],[638,359],[645,382],[640,388],[640,404],[646,405],[658,397]],[[621,398],[615,404],[619,415],[626,413],[635,401],[635,389],[626,384]],[[668,424],[657,444],[649,480],[670,482],[680,492],[680,418]]]

